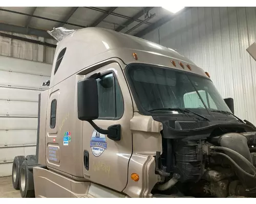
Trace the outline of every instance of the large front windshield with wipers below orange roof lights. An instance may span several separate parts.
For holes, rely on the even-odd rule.
[[[207,78],[153,65],[133,64],[127,71],[144,111],[180,108],[206,114],[214,110],[230,112]]]

